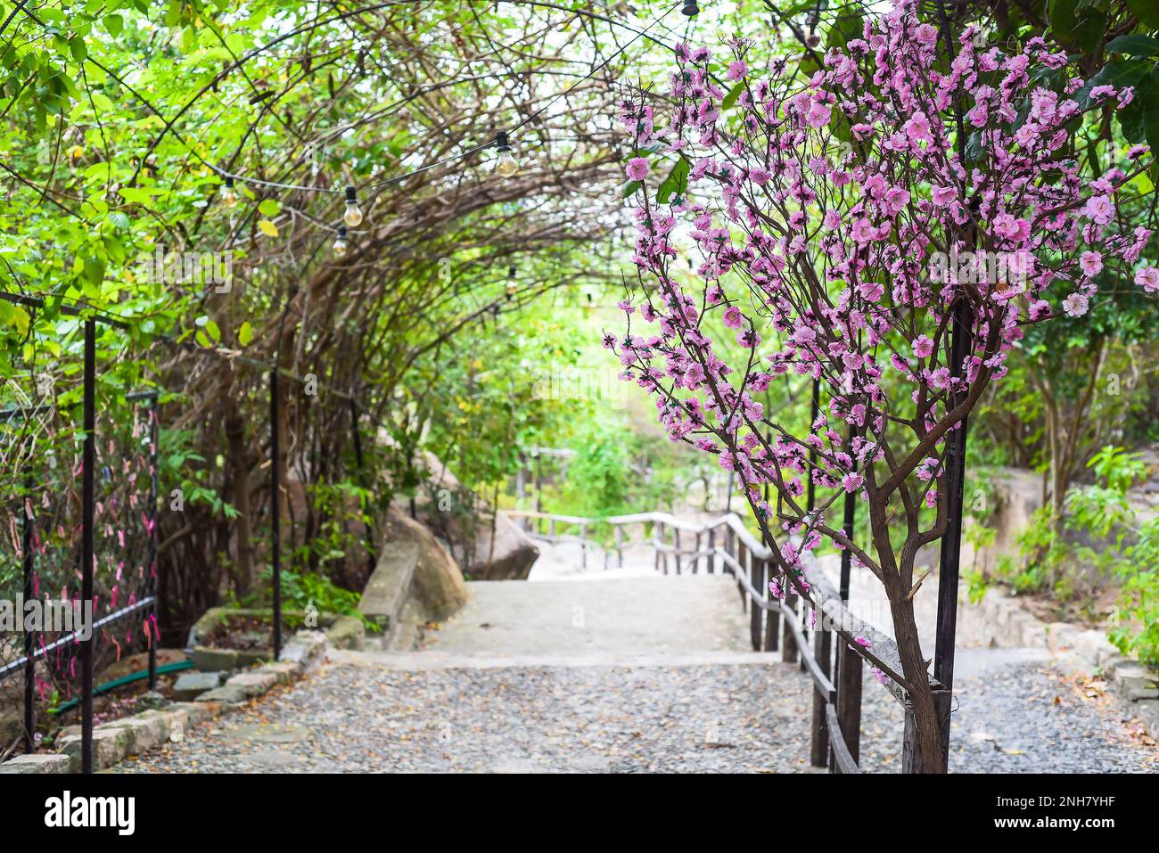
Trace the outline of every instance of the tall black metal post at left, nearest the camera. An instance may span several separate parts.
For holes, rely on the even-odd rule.
[[[85,321],[85,446],[81,477],[81,612],[93,602],[93,509],[96,466],[96,321]],[[90,612],[90,611],[88,611]],[[81,772],[93,772],[93,636],[81,641]]]

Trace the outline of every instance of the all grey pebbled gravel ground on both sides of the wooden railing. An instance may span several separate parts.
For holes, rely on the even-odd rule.
[[[979,652],[981,654],[981,652]],[[399,669],[344,654],[123,772],[810,772],[809,684],[781,663]],[[969,652],[963,656],[969,658]],[[986,658],[987,661],[991,658]],[[427,669],[427,666],[435,666]],[[960,679],[952,770],[1156,772],[1115,703],[1012,656]],[[862,764],[897,772],[901,709],[865,686]]]

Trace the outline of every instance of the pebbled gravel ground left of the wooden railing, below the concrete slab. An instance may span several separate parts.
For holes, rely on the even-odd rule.
[[[337,664],[119,770],[808,772],[804,688],[783,664]]]

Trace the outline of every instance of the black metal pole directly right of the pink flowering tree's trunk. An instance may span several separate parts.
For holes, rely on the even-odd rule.
[[[950,377],[965,378],[965,359],[974,350],[974,309],[970,302],[958,299],[954,309],[954,329],[950,342]],[[963,382],[964,385],[964,382]],[[954,404],[965,399],[967,391],[958,386]],[[938,561],[938,629],[934,641],[934,678],[946,688],[939,702],[942,720],[942,766],[949,763],[949,706],[954,688],[954,639],[957,633],[957,578],[962,555],[962,510],[965,495],[967,418],[948,437],[946,447],[946,535],[941,540]]]

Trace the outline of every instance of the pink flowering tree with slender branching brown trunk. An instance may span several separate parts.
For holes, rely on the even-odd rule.
[[[1100,277],[1156,287],[1159,272],[1130,269],[1150,232],[1116,221],[1147,150],[1088,180],[1072,145],[1086,112],[1132,92],[1085,85],[1042,38],[1013,54],[974,25],[953,39],[912,0],[809,79],[730,48],[724,80],[707,49],[678,48],[666,126],[647,93],[622,104],[637,150],[679,165],[653,199],[648,159],[628,163],[641,289],[622,304],[627,333],[605,345],[673,440],[735,472],[777,546],[775,593],[809,600],[802,555],[823,540],[880,581],[903,669],[890,676],[911,698],[924,770],[940,772],[914,559],[947,531],[950,439],[1023,327],[1084,314]],[[825,391],[808,431],[757,400],[787,373]],[[812,512],[807,477],[833,490]],[[846,493],[863,498],[868,541],[830,518]],[[868,643],[855,650],[884,678]]]

